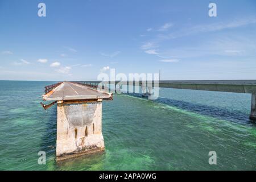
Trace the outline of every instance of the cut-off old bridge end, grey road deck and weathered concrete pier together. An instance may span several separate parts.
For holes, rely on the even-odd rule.
[[[112,94],[63,82],[43,99],[57,101],[57,160],[104,150],[102,101]]]

